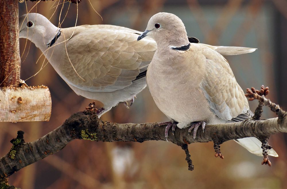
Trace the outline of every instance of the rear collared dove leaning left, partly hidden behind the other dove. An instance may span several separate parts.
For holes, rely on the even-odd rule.
[[[60,29],[38,13],[22,15],[19,23],[20,38],[27,38],[40,48],[75,93],[104,104],[98,110],[98,117],[119,102],[132,101],[146,87],[146,70],[156,50],[156,42],[151,38],[137,42],[142,32],[112,25]],[[189,40],[199,42],[196,38]],[[201,45],[223,55],[255,50]]]

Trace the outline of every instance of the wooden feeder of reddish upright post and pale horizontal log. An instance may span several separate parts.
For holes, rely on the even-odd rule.
[[[49,121],[48,87],[20,82],[18,9],[18,0],[0,0],[0,122]]]

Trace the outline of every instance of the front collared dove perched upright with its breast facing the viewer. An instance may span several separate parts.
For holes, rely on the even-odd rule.
[[[190,127],[195,139],[200,125],[204,131],[205,124],[238,122],[253,116],[226,59],[206,45],[190,43],[179,17],[171,13],[153,15],[137,40],[146,36],[158,45],[146,80],[154,102],[171,120],[166,139],[171,126],[173,134],[176,126]],[[262,156],[257,138],[236,142]],[[273,149],[269,153],[278,156]]]

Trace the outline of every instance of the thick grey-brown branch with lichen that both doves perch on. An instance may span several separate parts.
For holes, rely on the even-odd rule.
[[[44,137],[19,147],[13,146],[15,151],[0,159],[0,176],[2,178],[10,176],[23,167],[60,151],[74,139],[105,142],[165,141],[164,130],[165,128],[157,126],[157,123],[117,124],[102,121],[95,114],[77,112]],[[168,139],[177,145],[209,142],[213,141],[214,133],[216,133],[222,143],[244,137],[268,137],[275,133],[287,133],[287,118],[284,116],[280,121],[278,121],[278,118],[267,120],[250,119],[244,122],[207,125],[205,126],[204,134],[199,129],[195,140],[188,135],[188,128],[177,129],[174,136],[170,132]]]

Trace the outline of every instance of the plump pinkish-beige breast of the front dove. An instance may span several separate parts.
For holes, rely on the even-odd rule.
[[[173,65],[154,57],[147,71],[147,85],[158,108],[170,119],[187,127],[195,121],[209,122],[215,115],[201,88],[202,74],[173,57]],[[193,64],[192,59],[189,64]]]

